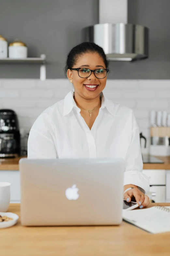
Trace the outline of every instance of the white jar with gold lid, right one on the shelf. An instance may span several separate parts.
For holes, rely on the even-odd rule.
[[[14,42],[9,44],[8,47],[9,58],[13,59],[24,59],[27,58],[27,45],[21,40],[16,39]]]

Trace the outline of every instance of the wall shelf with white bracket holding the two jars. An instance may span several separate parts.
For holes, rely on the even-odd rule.
[[[25,59],[0,59],[0,64],[40,64],[40,80],[46,79],[46,56],[41,54],[40,58],[25,58]]]

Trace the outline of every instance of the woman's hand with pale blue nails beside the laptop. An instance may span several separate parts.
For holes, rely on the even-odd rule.
[[[125,199],[128,203],[131,200],[134,201],[134,197],[140,209],[149,205],[149,197],[142,193],[138,188],[129,189],[123,194],[123,199]]]

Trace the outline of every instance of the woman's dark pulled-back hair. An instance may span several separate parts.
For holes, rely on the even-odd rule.
[[[88,52],[96,52],[100,55],[100,57],[103,59],[106,68],[108,68],[108,64],[109,61],[106,58],[106,54],[103,50],[102,47],[100,47],[99,45],[95,44],[95,43],[91,43],[91,42],[84,42],[84,43],[80,43],[78,45],[76,45],[75,47],[73,47],[71,49],[71,51],[69,52],[69,54],[67,55],[67,60],[66,60],[66,65],[65,65],[65,75],[67,74],[67,70],[72,68],[78,58]]]

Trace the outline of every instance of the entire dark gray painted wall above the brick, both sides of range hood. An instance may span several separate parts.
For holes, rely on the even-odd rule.
[[[47,56],[47,78],[64,78],[68,51],[81,28],[98,23],[98,0],[0,0],[0,34]],[[129,0],[128,22],[149,27],[149,59],[110,62],[113,79],[170,79],[170,1]],[[39,65],[0,65],[0,78],[38,78]]]

